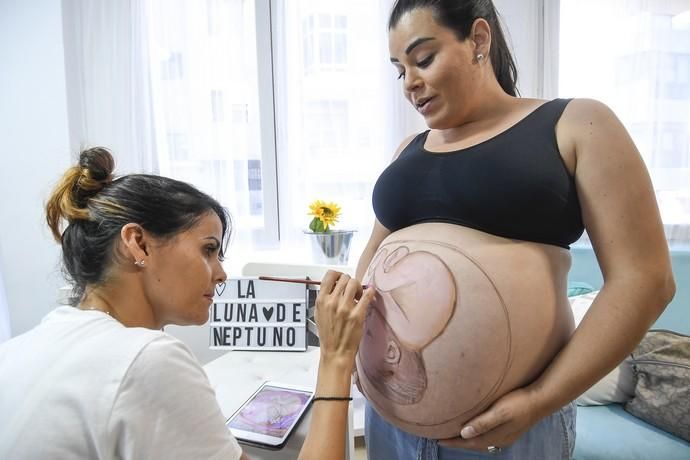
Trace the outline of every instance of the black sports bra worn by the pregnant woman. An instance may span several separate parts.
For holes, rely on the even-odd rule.
[[[429,131],[419,134],[374,186],[377,219],[390,231],[448,222],[569,248],[584,231],[555,133],[569,102],[546,102],[506,131],[453,152],[427,151]]]

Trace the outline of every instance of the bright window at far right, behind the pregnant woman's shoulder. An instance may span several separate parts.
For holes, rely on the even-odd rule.
[[[560,17],[560,95],[616,112],[650,171],[669,240],[690,242],[690,0],[561,0]]]

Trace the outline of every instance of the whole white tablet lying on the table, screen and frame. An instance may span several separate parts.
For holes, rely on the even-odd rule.
[[[314,397],[313,388],[264,382],[227,420],[238,441],[280,449]]]

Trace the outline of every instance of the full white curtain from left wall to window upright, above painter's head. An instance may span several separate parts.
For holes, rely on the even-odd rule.
[[[261,190],[251,190],[262,151],[254,2],[63,0],[63,8],[73,150],[103,145],[118,174],[194,184],[230,209],[235,245],[251,247],[272,223]]]

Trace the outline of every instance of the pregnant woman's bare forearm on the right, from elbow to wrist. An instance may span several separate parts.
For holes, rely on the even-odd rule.
[[[576,399],[625,359],[674,292],[670,275],[606,282],[568,344],[529,387],[540,402],[540,415]]]

